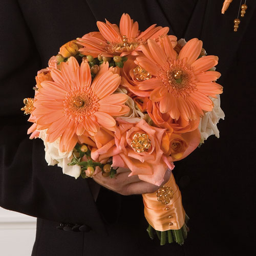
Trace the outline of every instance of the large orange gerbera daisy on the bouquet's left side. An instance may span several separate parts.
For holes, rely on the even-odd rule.
[[[60,150],[71,151],[80,135],[95,135],[100,126],[115,131],[113,116],[129,112],[123,103],[125,94],[113,94],[121,77],[115,68],[103,63],[91,82],[90,67],[86,61],[79,67],[70,57],[60,63],[60,70],[51,69],[53,81],[41,82],[34,102],[33,116],[37,130],[47,129],[47,141],[60,137]]]

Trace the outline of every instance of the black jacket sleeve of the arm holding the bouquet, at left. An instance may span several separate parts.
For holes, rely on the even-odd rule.
[[[86,180],[48,166],[44,144],[29,140],[20,108],[33,97],[40,57],[15,0],[0,2],[0,206],[58,222],[88,224],[103,230]]]

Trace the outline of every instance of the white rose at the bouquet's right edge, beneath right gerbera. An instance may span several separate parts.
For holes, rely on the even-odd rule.
[[[220,119],[224,119],[225,114],[221,109],[220,95],[218,98],[210,97],[212,102],[214,102],[214,109],[212,111],[206,112],[200,119],[198,126],[201,132],[201,142],[203,143],[210,135],[215,135],[217,138],[220,137],[220,132],[217,127],[217,123]]]

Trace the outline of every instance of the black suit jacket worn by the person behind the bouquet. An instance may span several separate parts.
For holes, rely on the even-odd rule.
[[[0,205],[38,218],[33,255],[253,255],[255,246],[255,8],[232,31],[240,1],[225,15],[223,1],[2,0],[0,2]],[[47,166],[41,140],[29,140],[20,112],[33,97],[37,70],[45,68],[65,42],[97,31],[96,20],[119,22],[129,13],[140,30],[157,23],[170,34],[203,40],[220,57],[225,121],[221,138],[206,143],[181,162],[174,174],[191,232],[183,246],[160,246],[147,237],[140,195],[123,197],[101,188],[95,203],[87,180]],[[106,203],[108,202],[108,203]],[[56,229],[60,222],[85,224],[86,232]],[[89,231],[90,230],[90,231]],[[1,252],[1,248],[0,248]]]

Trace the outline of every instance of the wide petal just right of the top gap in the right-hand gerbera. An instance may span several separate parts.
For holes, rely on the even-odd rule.
[[[203,42],[197,38],[189,40],[185,46],[181,49],[179,59],[187,57],[187,63],[193,63],[202,51]],[[212,66],[213,67],[213,66]]]

